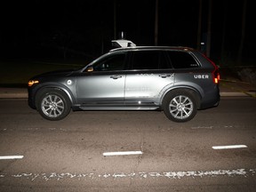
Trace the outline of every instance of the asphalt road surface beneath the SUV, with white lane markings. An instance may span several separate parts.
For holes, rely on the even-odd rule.
[[[183,124],[156,111],[71,112],[51,122],[27,100],[0,100],[0,191],[255,188],[250,97],[222,98],[218,108]]]

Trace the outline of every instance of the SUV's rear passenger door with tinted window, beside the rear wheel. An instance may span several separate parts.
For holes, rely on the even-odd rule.
[[[171,65],[164,51],[134,51],[131,54],[125,81],[125,103],[154,106],[164,89],[174,83]]]

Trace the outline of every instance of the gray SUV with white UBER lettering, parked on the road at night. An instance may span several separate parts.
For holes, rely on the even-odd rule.
[[[42,74],[28,82],[28,105],[48,120],[73,110],[163,110],[187,122],[218,106],[219,70],[187,47],[111,50],[84,68]]]

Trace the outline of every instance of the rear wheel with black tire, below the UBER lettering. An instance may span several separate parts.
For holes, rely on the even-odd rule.
[[[174,122],[188,122],[196,116],[196,97],[186,90],[169,92],[163,100],[164,114]]]

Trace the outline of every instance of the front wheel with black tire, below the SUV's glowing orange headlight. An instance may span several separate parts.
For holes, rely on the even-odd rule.
[[[71,104],[65,92],[56,89],[45,89],[38,92],[36,109],[45,119],[58,121],[68,116]]]

